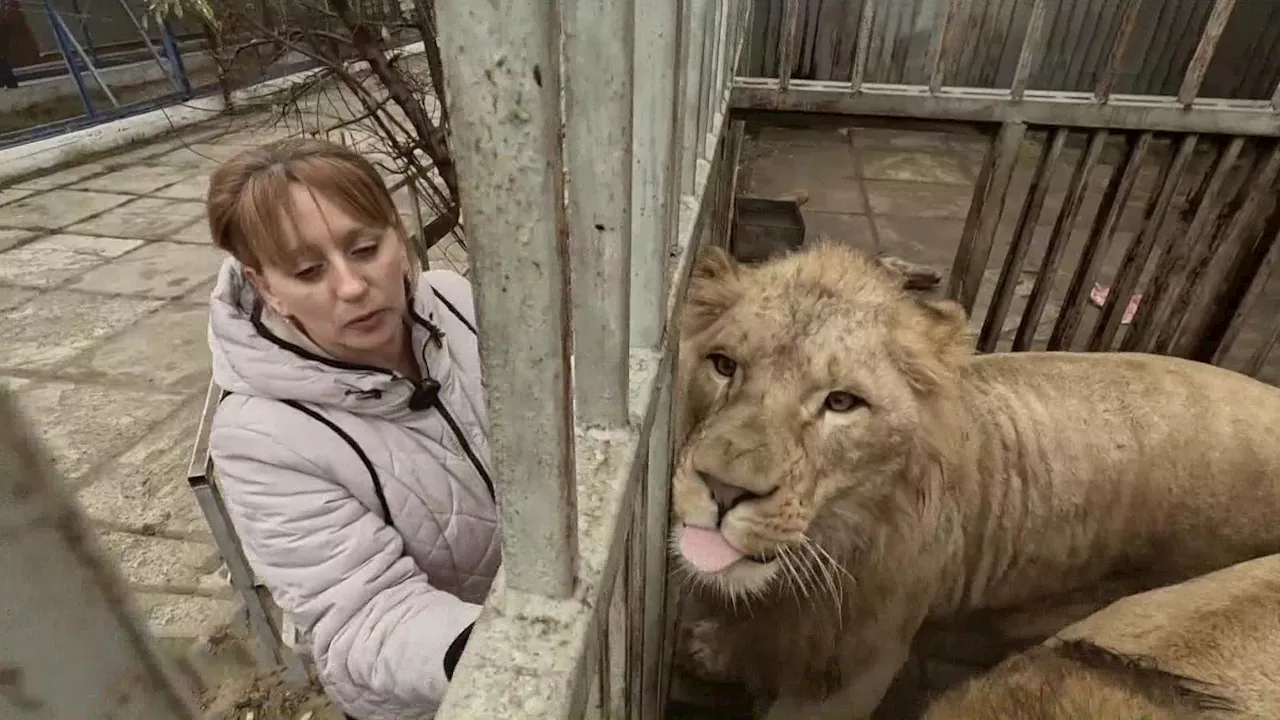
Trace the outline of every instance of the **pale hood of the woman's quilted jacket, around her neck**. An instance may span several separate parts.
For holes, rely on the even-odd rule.
[[[449,380],[449,354],[426,282],[410,300],[408,324],[424,377]],[[390,370],[329,356],[273,314],[234,258],[223,261],[209,302],[214,382],[228,392],[337,406],[365,415],[407,413],[417,384]],[[429,380],[428,380],[429,382]],[[426,383],[424,383],[426,384]]]

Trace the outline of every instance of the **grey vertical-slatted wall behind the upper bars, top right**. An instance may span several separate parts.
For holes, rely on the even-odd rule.
[[[785,0],[755,3],[744,74],[776,77]],[[945,83],[1009,87],[1032,0],[796,0],[799,47],[791,77],[847,79],[864,6],[873,8],[867,82],[927,85],[929,31],[945,3],[956,1],[960,41],[948,42]],[[1135,0],[1061,0],[1046,18],[1044,54],[1033,90],[1091,91]],[[1121,60],[1114,92],[1176,95],[1213,0],[1146,0]],[[1239,3],[1208,68],[1202,97],[1262,100],[1280,81],[1280,1]]]

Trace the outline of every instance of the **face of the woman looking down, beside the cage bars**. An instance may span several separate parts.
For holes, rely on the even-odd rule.
[[[301,184],[291,193],[294,223],[285,223],[283,240],[296,261],[251,272],[259,293],[334,357],[393,363],[403,348],[410,266],[399,231],[362,225]]]

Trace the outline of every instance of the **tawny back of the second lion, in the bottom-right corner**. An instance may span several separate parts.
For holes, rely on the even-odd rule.
[[[1119,600],[924,715],[1080,717],[1280,717],[1280,555]]]

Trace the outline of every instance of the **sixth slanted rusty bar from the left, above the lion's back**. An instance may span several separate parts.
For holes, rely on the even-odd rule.
[[[1204,236],[1204,229],[1221,210],[1222,186],[1235,168],[1235,160],[1240,156],[1243,147],[1244,138],[1233,137],[1215,163],[1204,187],[1199,191],[1199,201],[1196,204],[1192,222],[1184,231],[1174,236],[1169,251],[1160,259],[1160,264],[1151,277],[1151,287],[1143,295],[1142,304],[1138,305],[1138,313],[1134,315],[1133,327],[1125,334],[1123,348],[1161,352],[1167,350],[1172,342],[1178,319],[1185,311],[1187,304],[1190,302],[1189,293],[1183,296],[1189,263],[1198,258],[1198,251],[1203,247],[1201,238]],[[1162,307],[1165,299],[1172,299],[1167,313]]]

